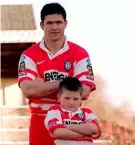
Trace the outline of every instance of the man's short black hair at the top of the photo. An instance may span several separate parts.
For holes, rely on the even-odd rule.
[[[63,19],[66,20],[66,11],[62,5],[59,3],[49,3],[43,6],[41,10],[41,21],[43,22],[47,15],[60,14]]]

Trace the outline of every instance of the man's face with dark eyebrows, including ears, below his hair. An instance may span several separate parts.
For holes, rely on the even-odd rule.
[[[47,15],[44,22],[41,22],[40,25],[47,39],[58,41],[64,36],[67,21],[65,21],[60,14],[52,14]]]

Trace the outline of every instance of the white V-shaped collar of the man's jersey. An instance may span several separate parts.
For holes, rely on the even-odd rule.
[[[66,52],[66,51],[69,49],[69,45],[68,45],[68,42],[67,42],[67,38],[66,38],[66,36],[65,36],[65,42],[64,42],[63,48],[61,48],[55,55],[53,55],[53,54],[45,47],[45,45],[44,45],[44,38],[42,38],[42,40],[41,40],[41,42],[40,42],[40,48],[41,48],[42,50],[44,50],[44,51],[47,52],[48,57],[49,57],[50,59],[53,59],[53,58],[55,58],[56,56],[58,56],[58,55],[60,55],[60,54],[62,54],[62,53],[64,53],[64,52]]]

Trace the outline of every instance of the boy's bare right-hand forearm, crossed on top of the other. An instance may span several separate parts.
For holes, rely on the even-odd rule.
[[[93,123],[71,124],[66,125],[66,128],[86,136],[98,133],[98,127]]]

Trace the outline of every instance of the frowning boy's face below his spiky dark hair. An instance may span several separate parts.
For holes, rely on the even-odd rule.
[[[68,111],[76,111],[82,101],[80,91],[69,91],[65,89],[58,95],[58,99],[61,106]]]

